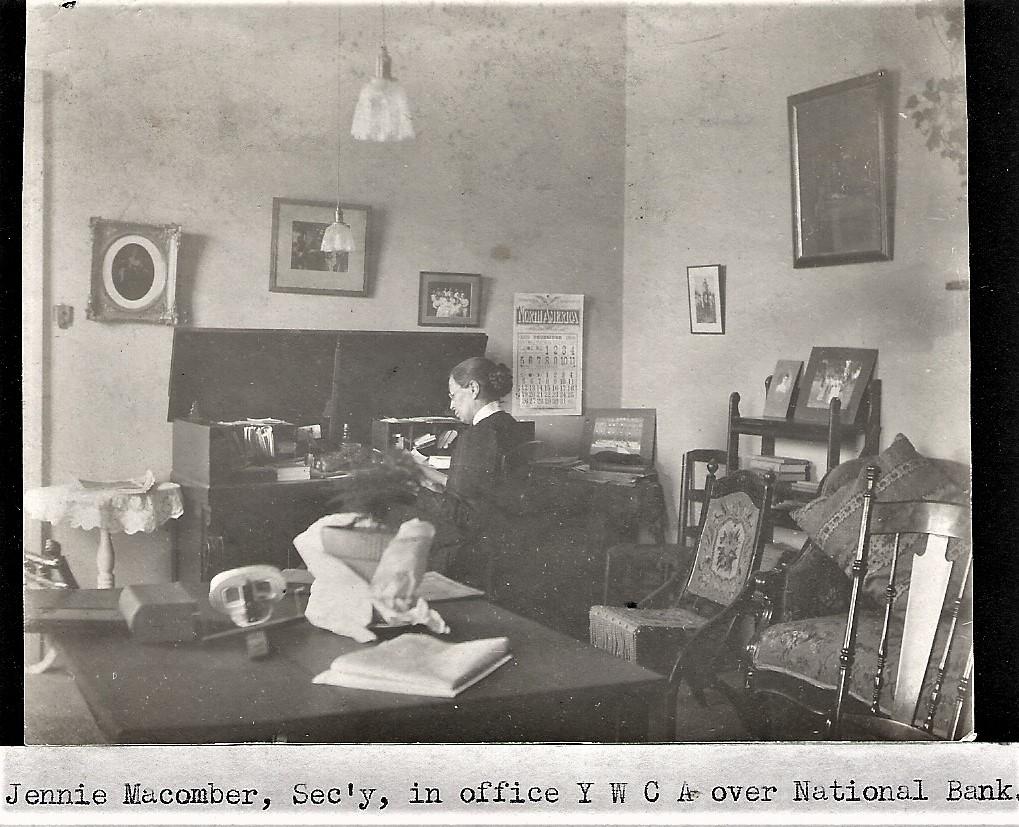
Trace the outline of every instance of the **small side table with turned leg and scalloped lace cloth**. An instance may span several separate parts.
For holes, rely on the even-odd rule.
[[[114,552],[111,535],[146,534],[183,513],[180,486],[157,483],[146,491],[123,484],[67,483],[24,492],[24,510],[34,519],[51,525],[66,522],[76,529],[99,529],[96,585],[112,589]]]

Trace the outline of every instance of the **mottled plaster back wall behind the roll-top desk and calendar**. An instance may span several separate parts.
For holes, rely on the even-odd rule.
[[[26,419],[44,482],[170,473],[171,331],[86,320],[91,216],[181,224],[181,293],[204,327],[417,329],[419,271],[481,273],[489,354],[508,362],[514,292],[584,293],[585,401],[618,403],[623,11],[397,5],[387,17],[418,135],[374,145],[348,128],[377,7],[342,7],[338,50],[323,5],[30,8],[43,111],[26,122],[44,153],[28,207],[45,289],[25,306],[43,335]],[[336,198],[339,130],[339,194],[373,208],[371,295],[271,293],[272,199]],[[76,312],[66,330],[50,321],[58,302]],[[577,418],[547,420],[539,437],[574,447]],[[169,531],[115,538],[119,583],[169,576]],[[93,585],[94,534],[54,536]]]

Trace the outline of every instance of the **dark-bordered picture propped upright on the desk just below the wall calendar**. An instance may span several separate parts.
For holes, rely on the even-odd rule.
[[[653,407],[591,408],[584,415],[581,459],[593,471],[648,471],[654,465]]]

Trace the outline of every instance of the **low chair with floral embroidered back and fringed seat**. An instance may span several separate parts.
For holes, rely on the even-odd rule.
[[[592,606],[591,644],[659,672],[675,671],[684,645],[745,593],[763,554],[772,487],[771,475],[751,472],[710,484],[689,571],[677,571],[636,606]]]

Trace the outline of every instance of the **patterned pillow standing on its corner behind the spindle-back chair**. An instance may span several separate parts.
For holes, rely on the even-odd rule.
[[[860,460],[850,462],[859,464]],[[852,577],[853,560],[860,537],[863,492],[867,484],[866,465],[870,463],[880,468],[874,492],[878,500],[965,501],[962,490],[937,464],[917,453],[912,443],[898,434],[878,456],[862,463],[855,482],[842,485],[830,493],[827,493],[825,487],[821,496],[792,513],[796,523],[810,535],[810,539],[835,560],[848,577]],[[902,538],[896,570],[897,600],[909,588],[913,550],[919,539],[908,535]],[[883,601],[882,593],[892,566],[893,542],[891,536],[878,536],[870,543],[864,589],[877,603]]]

